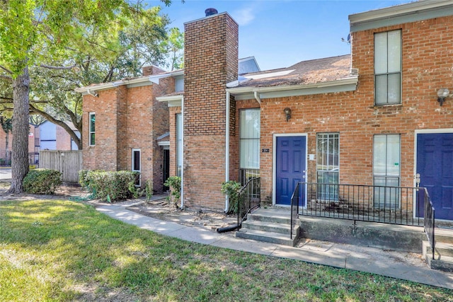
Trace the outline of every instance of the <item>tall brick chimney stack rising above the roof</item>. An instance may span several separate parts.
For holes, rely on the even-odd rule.
[[[238,25],[226,13],[185,23],[185,206],[224,208],[226,83],[237,79]]]

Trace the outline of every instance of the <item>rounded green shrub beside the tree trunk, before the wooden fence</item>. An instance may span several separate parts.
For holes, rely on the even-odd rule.
[[[50,169],[33,169],[23,179],[23,190],[32,194],[54,194],[62,184],[62,173]]]

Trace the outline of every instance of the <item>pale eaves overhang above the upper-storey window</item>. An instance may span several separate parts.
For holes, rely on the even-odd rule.
[[[453,0],[420,0],[349,16],[350,32],[452,16]]]

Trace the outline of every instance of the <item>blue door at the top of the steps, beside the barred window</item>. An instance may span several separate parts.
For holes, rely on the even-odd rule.
[[[305,181],[306,137],[277,137],[275,163],[275,204],[291,204],[298,182]],[[299,206],[304,206],[304,187],[300,187]]]

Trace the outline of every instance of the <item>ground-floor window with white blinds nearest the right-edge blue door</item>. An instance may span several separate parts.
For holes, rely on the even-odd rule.
[[[399,134],[374,136],[373,182],[375,207],[399,207]]]

